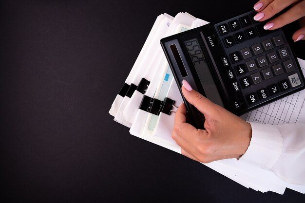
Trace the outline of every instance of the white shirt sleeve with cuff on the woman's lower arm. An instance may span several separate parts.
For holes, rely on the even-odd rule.
[[[273,171],[287,183],[305,185],[305,124],[250,124],[250,145],[239,162]]]

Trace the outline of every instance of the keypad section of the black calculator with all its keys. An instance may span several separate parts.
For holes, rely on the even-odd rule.
[[[222,57],[231,85],[233,108],[255,106],[302,84],[283,31],[268,31],[255,12],[216,24],[226,55]]]

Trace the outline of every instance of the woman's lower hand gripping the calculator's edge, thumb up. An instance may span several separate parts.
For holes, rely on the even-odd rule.
[[[184,97],[206,118],[205,130],[196,129],[186,122],[187,110],[181,104],[175,113],[172,138],[181,147],[181,154],[199,162],[239,158],[248,149],[251,125],[240,117],[212,103],[183,81]]]

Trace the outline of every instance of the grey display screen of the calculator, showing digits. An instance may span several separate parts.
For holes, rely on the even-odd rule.
[[[210,72],[209,64],[207,63],[206,57],[201,49],[201,46],[197,38],[189,39],[184,41],[184,44],[191,57],[194,68],[199,76],[200,82],[206,93],[207,98],[212,102],[224,106],[222,99],[218,93],[216,84],[213,80],[213,76]]]

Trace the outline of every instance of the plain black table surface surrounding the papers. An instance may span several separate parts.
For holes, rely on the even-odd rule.
[[[0,202],[304,203],[134,137],[108,113],[158,15],[214,21],[254,3],[2,0]]]

